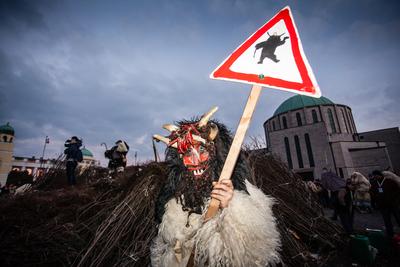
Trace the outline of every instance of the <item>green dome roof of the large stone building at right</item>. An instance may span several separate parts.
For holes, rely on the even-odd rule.
[[[288,112],[290,110],[295,110],[303,107],[312,107],[319,105],[334,105],[331,100],[326,97],[321,96],[320,98],[314,98],[304,95],[295,95],[289,99],[286,99],[274,112],[274,116]]]

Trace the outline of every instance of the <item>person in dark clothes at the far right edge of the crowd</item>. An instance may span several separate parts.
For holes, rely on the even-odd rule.
[[[391,238],[394,234],[392,215],[400,226],[400,186],[396,181],[387,179],[381,171],[375,170],[372,175],[374,179],[371,181],[371,197],[382,214],[386,234]]]

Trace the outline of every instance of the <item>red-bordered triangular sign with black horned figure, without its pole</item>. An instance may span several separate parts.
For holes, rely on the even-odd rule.
[[[241,44],[210,77],[321,96],[288,6]]]

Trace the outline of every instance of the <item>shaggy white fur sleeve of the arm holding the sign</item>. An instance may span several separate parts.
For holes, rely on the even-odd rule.
[[[280,261],[273,199],[249,182],[231,203],[196,233],[198,266],[266,266]]]

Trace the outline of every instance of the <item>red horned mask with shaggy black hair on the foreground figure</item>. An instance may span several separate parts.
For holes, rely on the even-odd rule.
[[[204,199],[210,196],[212,181],[217,181],[229,151],[232,138],[225,125],[211,121],[217,107],[200,119],[182,120],[176,125],[166,124],[168,136],[154,135],[167,144],[165,159],[169,175],[157,200],[157,218],[161,220],[165,204],[172,197],[181,201],[185,210],[201,214]],[[232,174],[236,190],[246,190],[246,164],[239,157]],[[182,197],[183,196],[183,197]]]

